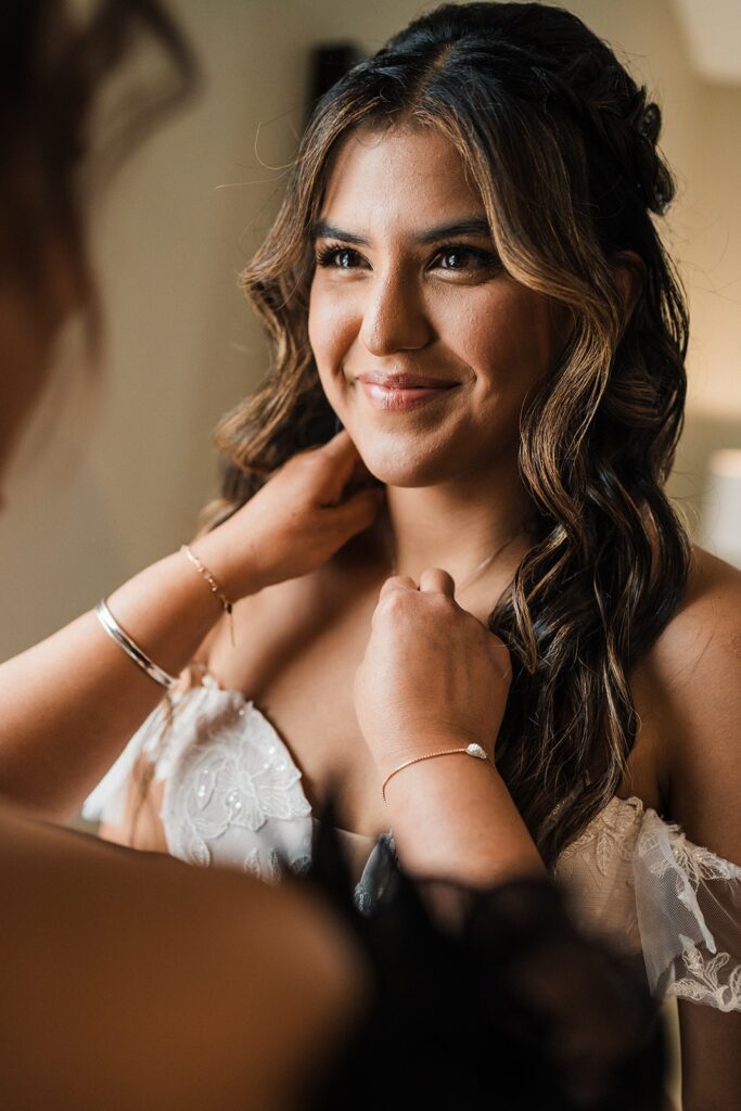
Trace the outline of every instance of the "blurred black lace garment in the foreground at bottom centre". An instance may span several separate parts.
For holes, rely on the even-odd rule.
[[[368,955],[372,1003],[310,1111],[653,1111],[664,1041],[645,985],[571,925],[555,887],[473,891],[394,864],[369,914],[321,815],[309,882]]]

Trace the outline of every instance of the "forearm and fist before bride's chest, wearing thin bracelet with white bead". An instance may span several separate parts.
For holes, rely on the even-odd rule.
[[[451,648],[452,645],[452,648]],[[444,571],[389,579],[356,681],[356,709],[385,799],[401,863],[418,875],[470,885],[543,869],[538,850],[493,764],[509,691],[509,654],[454,601]],[[382,692],[380,695],[379,692]]]

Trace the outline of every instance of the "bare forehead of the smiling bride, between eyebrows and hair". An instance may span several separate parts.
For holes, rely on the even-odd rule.
[[[347,230],[370,231],[481,211],[453,144],[432,128],[400,126],[349,136],[334,160],[321,214]]]

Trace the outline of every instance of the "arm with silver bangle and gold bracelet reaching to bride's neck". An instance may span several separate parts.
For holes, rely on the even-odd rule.
[[[306,574],[381,504],[378,489],[343,497],[359,459],[347,432],[292,459],[229,521],[194,542],[227,598]],[[192,659],[221,617],[181,553],[142,571],[109,599],[112,614],[170,674]],[[0,667],[0,794],[66,819],[160,701],[163,689],[87,613]]]

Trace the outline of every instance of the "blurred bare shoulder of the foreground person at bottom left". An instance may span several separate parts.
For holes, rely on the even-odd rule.
[[[318,899],[0,808],[3,1108],[303,1105],[366,997]]]

